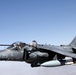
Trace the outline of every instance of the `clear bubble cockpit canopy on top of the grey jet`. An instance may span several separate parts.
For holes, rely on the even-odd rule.
[[[23,43],[23,42],[14,42],[7,49],[19,50],[19,49],[23,48],[25,45],[26,45],[26,43]]]

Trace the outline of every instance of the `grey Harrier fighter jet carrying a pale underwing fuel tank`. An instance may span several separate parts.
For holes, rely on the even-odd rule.
[[[76,37],[70,44],[60,46],[38,44],[35,40],[31,45],[15,42],[0,46],[8,46],[0,50],[0,60],[4,61],[25,61],[31,64],[31,67],[55,67],[76,63]]]

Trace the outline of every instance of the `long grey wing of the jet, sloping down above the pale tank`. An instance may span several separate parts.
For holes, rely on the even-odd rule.
[[[37,45],[38,49],[44,49],[44,50],[50,50],[52,52],[55,52],[56,54],[61,54],[64,56],[72,57],[76,59],[76,54],[68,51],[67,49],[65,50],[64,48],[58,48],[52,45]]]

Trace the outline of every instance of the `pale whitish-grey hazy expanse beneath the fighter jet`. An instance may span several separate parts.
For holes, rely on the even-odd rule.
[[[76,65],[31,68],[25,62],[1,61],[0,75],[76,75]]]

